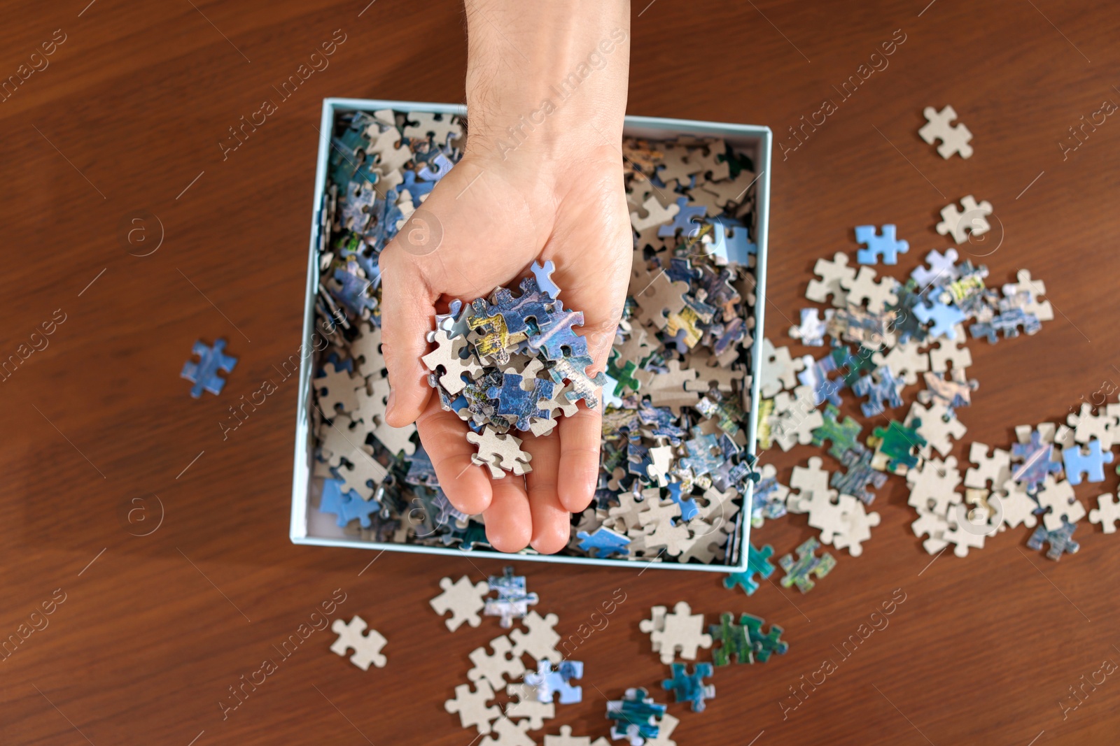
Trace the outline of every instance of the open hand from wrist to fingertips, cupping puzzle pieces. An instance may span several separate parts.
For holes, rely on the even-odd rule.
[[[503,551],[561,549],[569,513],[590,502],[599,471],[601,407],[529,433],[525,478],[492,480],[472,463],[466,423],[439,406],[420,358],[437,305],[469,302],[516,285],[540,259],[567,308],[582,311],[591,370],[606,363],[629,278],[632,233],[619,151],[584,151],[568,162],[469,152],[440,180],[381,255],[383,350],[392,395],[386,419],[416,422],[440,487],[459,510],[483,513],[489,542]],[[601,397],[600,397],[601,398]]]

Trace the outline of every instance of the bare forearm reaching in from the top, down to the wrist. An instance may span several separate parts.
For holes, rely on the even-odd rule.
[[[467,151],[562,160],[617,149],[628,0],[466,0]]]

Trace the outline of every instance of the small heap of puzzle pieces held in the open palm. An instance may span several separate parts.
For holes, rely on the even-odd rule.
[[[548,435],[579,402],[598,407],[596,390],[606,384],[604,374],[587,374],[587,340],[572,331],[584,313],[557,298],[556,266],[536,262],[531,270],[520,295],[497,287],[489,300],[452,301],[450,313],[436,317],[428,336],[436,349],[423,357],[440,406],[468,423],[467,440],[478,446],[472,460],[494,479],[532,471],[532,456],[510,431]]]

